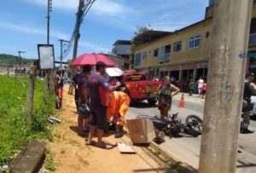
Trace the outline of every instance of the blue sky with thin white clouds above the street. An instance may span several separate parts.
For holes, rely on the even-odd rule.
[[[50,43],[55,59],[60,38],[71,37],[79,0],[53,0]],[[208,0],[96,0],[80,28],[78,55],[111,52],[117,39],[131,39],[137,26],[174,31],[204,19]],[[0,1],[0,54],[38,58],[38,43],[46,43],[47,0]],[[73,50],[73,49],[72,49]],[[67,56],[72,58],[72,52]],[[67,58],[65,58],[67,60]],[[64,59],[64,61],[65,61]]]

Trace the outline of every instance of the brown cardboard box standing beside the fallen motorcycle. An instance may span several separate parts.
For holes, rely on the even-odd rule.
[[[155,136],[154,124],[148,119],[127,119],[127,128],[134,144],[149,143]]]

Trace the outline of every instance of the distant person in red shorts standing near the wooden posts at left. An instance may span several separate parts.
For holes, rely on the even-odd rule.
[[[62,93],[63,93],[64,81],[61,78],[61,71],[57,71],[55,74],[55,108],[62,109]]]

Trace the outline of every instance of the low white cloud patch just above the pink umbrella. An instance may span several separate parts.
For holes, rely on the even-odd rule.
[[[82,53],[108,53],[111,51],[111,49],[103,47],[102,45],[83,41],[79,42],[79,49],[84,49],[84,52]]]

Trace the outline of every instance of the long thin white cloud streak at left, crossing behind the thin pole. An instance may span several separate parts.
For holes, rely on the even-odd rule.
[[[26,34],[39,34],[44,36],[46,36],[47,34],[45,29],[33,28],[31,26],[20,26],[14,23],[0,22],[0,28],[14,32],[23,32]],[[49,36],[55,38],[69,39],[69,36],[67,34],[57,31],[49,31]]]

